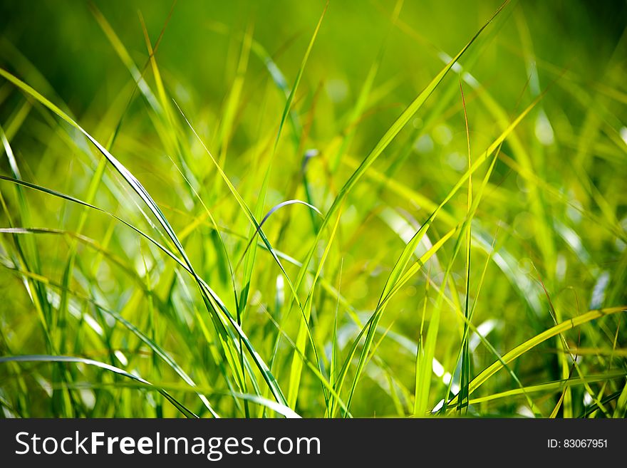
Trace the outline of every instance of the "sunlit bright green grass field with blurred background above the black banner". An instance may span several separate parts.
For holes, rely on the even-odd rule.
[[[0,1],[3,417],[625,417],[623,1]]]

